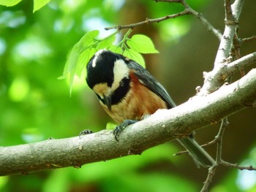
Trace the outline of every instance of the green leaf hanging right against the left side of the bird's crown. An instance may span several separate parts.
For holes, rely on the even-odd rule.
[[[78,77],[81,76],[83,72],[83,68],[88,64],[90,58],[97,52],[95,48],[86,49],[83,50],[82,53],[80,53],[78,58],[77,67],[75,70],[75,74],[78,74]]]

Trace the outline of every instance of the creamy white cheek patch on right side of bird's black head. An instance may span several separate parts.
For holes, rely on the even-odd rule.
[[[124,77],[129,77],[129,68],[127,64],[124,63],[124,60],[118,59],[114,63],[113,68],[114,80],[111,87],[112,91],[115,91],[119,87],[119,83]]]

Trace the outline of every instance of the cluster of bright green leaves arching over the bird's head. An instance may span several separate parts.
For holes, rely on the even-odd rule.
[[[89,31],[86,33],[74,47],[72,47],[71,53],[64,66],[64,72],[59,79],[64,79],[69,76],[69,93],[72,93],[72,84],[74,82],[75,75],[81,77],[86,71],[86,64],[88,64],[91,57],[97,53],[98,50],[108,49],[114,53],[122,54],[127,58],[138,62],[145,67],[145,61],[140,53],[159,53],[153,42],[149,37],[143,34],[135,34],[129,38],[129,34],[132,32],[131,29],[127,31],[124,38],[115,45],[116,34],[110,34],[108,37],[99,39],[99,31]]]

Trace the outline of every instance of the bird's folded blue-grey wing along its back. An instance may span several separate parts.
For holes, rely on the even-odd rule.
[[[170,98],[170,95],[167,93],[165,88],[146,69],[131,60],[127,65],[130,69],[135,70],[135,76],[138,77],[140,82],[143,83],[146,88],[161,97],[167,103],[169,108],[176,107],[176,104],[173,99]]]

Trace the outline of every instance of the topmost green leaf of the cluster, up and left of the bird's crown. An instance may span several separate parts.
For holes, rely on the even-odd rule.
[[[95,37],[97,37],[98,35],[99,35],[98,30],[89,31],[78,42],[79,47],[86,49],[88,47],[91,47],[91,45],[96,44],[98,40],[96,40]]]

